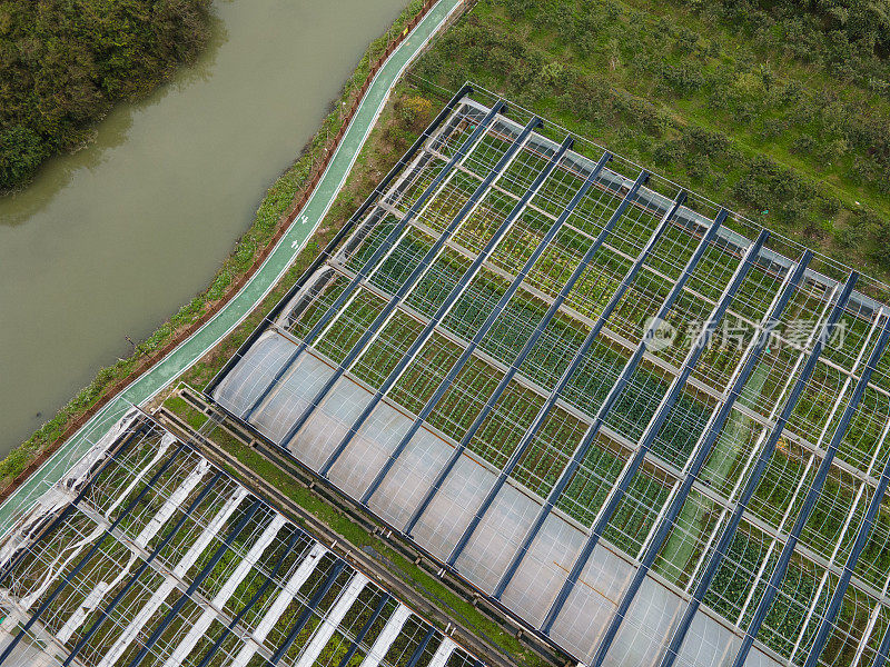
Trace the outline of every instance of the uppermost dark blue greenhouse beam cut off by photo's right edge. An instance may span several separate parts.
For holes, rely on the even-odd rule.
[[[751,618],[751,623],[748,626],[748,630],[745,630],[744,637],[742,637],[742,644],[739,647],[739,653],[735,655],[735,660],[733,661],[734,667],[743,667],[745,659],[748,658],[748,654],[751,650],[751,647],[754,644],[754,639],[760,631],[761,626],[763,625],[764,619],[767,618],[767,614],[772,606],[773,600],[775,599],[775,595],[779,593],[779,587],[782,585],[782,580],[788,571],[788,566],[791,564],[791,557],[794,555],[794,546],[798,544],[800,539],[800,535],[803,531],[807,521],[812,515],[813,509],[815,508],[815,504],[819,500],[819,496],[824,487],[825,480],[828,479],[828,474],[831,469],[831,461],[834,458],[834,455],[838,451],[838,447],[840,446],[843,438],[847,436],[847,429],[850,426],[850,421],[853,418],[857,409],[859,408],[859,404],[862,400],[862,396],[866,394],[866,388],[868,387],[869,380],[871,379],[872,372],[878,366],[878,362],[883,355],[884,349],[887,348],[888,339],[890,339],[890,318],[884,316],[884,325],[883,330],[881,331],[880,338],[874,344],[874,348],[871,350],[871,356],[869,357],[869,361],[866,365],[866,368],[862,370],[862,375],[857,382],[856,389],[853,389],[853,394],[850,397],[850,400],[847,404],[847,407],[841,415],[840,421],[838,426],[834,428],[834,434],[831,437],[831,441],[829,442],[828,449],[825,451],[825,456],[822,458],[821,464],[819,465],[819,470],[813,478],[813,482],[810,486],[810,489],[807,491],[807,497],[803,500],[803,506],[801,507],[800,514],[798,515],[797,520],[794,521],[794,527],[791,529],[790,535],[788,536],[788,540],[785,541],[784,547],[782,548],[782,552],[779,556],[779,563],[775,565],[775,568],[770,576],[769,584],[767,585],[767,589],[763,591],[763,597],[758,605],[756,610],[754,611],[754,616]],[[876,498],[878,496],[876,495]],[[880,498],[878,498],[880,504]],[[877,510],[877,507],[876,507]],[[866,535],[867,537],[867,535]],[[862,545],[864,547],[864,545]],[[851,554],[852,555],[852,554]],[[850,583],[849,577],[852,575],[852,571],[847,573],[844,569],[844,574],[842,575],[842,579],[839,584],[842,584],[844,578],[847,584]],[[843,586],[846,589],[846,585]],[[841,586],[839,585],[834,591],[835,594],[841,590]],[[841,590],[841,594],[843,591]],[[843,595],[841,595],[841,599],[837,600],[838,607],[840,606],[840,601],[842,600]],[[834,598],[832,598],[832,603],[834,603]],[[837,609],[834,610],[837,614]],[[828,639],[825,637],[824,639]],[[824,641],[823,641],[824,646]],[[820,649],[821,651],[821,649]],[[810,656],[807,658],[807,667],[812,667],[814,665],[813,660],[818,660],[819,653],[815,651],[815,647],[810,650]]]

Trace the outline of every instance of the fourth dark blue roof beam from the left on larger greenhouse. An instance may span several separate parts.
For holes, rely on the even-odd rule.
[[[370,486],[368,486],[368,488],[365,490],[364,495],[362,496],[362,499],[360,499],[362,505],[367,505],[368,504],[368,501],[370,500],[370,497],[374,495],[374,492],[380,486],[383,480],[386,478],[386,475],[389,472],[392,467],[395,465],[396,460],[398,460],[398,457],[402,456],[402,452],[404,451],[405,447],[408,446],[408,442],[411,441],[411,439],[421,429],[421,427],[423,426],[424,421],[429,417],[429,415],[436,408],[438,402],[444,398],[445,394],[448,391],[451,386],[457,379],[457,376],[463,370],[463,368],[466,365],[466,362],[473,356],[473,352],[482,344],[482,341],[485,338],[485,336],[488,334],[488,331],[492,329],[494,323],[501,317],[501,313],[503,312],[504,308],[507,307],[507,303],[511,301],[511,299],[513,299],[513,297],[515,296],[516,291],[518,291],[520,286],[523,283],[525,278],[532,271],[532,268],[537,262],[537,260],[541,257],[541,255],[543,255],[544,250],[550,246],[551,241],[556,237],[556,235],[558,233],[560,229],[562,229],[562,226],[568,219],[568,216],[571,216],[572,211],[575,210],[575,207],[581,202],[581,200],[587,193],[590,188],[593,186],[593,182],[596,179],[596,177],[603,170],[603,168],[605,167],[606,162],[609,160],[611,160],[611,159],[612,159],[612,153],[610,153],[610,152],[603,153],[603,157],[600,158],[600,161],[596,163],[596,167],[594,167],[594,169],[591,170],[591,175],[582,183],[582,186],[581,186],[581,188],[578,188],[577,192],[575,192],[575,196],[568,202],[568,206],[565,207],[565,210],[563,210],[563,212],[560,215],[560,217],[556,219],[556,221],[551,226],[551,228],[547,230],[546,235],[544,235],[544,237],[541,239],[541,242],[538,242],[537,247],[534,249],[532,255],[528,256],[528,259],[525,261],[525,263],[523,265],[522,269],[520,269],[520,272],[516,275],[516,277],[510,283],[510,287],[507,288],[507,290],[498,299],[497,303],[492,309],[492,312],[488,313],[488,317],[485,319],[485,321],[483,322],[482,327],[479,327],[478,331],[476,331],[475,336],[473,336],[473,339],[469,341],[469,345],[467,345],[464,348],[463,352],[461,352],[461,357],[451,367],[451,369],[448,369],[448,374],[445,376],[445,379],[439,384],[439,386],[437,387],[436,391],[433,394],[433,396],[429,398],[429,400],[426,401],[426,405],[424,405],[424,407],[417,414],[417,418],[411,425],[411,428],[408,428],[407,432],[402,437],[402,439],[399,440],[398,445],[396,445],[396,448],[393,450],[393,454],[390,454],[389,457],[387,457],[387,459],[384,462],[383,467],[377,472],[377,475],[374,478],[374,480],[370,482]],[[610,230],[611,230],[610,226],[606,226],[606,227],[603,228],[603,230],[600,232],[600,237],[597,238],[600,243],[602,243],[602,240],[605,239],[605,236],[610,232]]]

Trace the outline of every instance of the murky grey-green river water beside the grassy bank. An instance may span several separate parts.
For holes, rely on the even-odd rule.
[[[0,455],[209,281],[406,0],[228,0],[195,67],[0,199]]]

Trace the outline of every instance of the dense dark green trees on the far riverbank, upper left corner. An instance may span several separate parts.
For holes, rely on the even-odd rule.
[[[207,42],[210,0],[0,1],[0,190]]]

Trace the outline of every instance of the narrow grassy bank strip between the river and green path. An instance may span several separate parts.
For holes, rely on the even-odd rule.
[[[314,167],[323,160],[330,140],[344,126],[349,104],[356,99],[374,63],[386,53],[386,44],[404,31],[421,7],[422,2],[413,2],[389,30],[370,44],[347,81],[340,99],[333,104],[334,110],[306,146],[301,157],[269,188],[250,228],[216,273],[208,289],[181,308],[154,335],[137,345],[134,355],[99,371],[96,379],[56,417],[11,452],[0,464],[0,478],[4,487],[9,487],[14,477],[23,477],[26,469],[33,468],[43,460],[53,450],[55,445],[77,430],[86,417],[91,415],[107,397],[119,390],[128,378],[136,377],[164,356],[171,344],[195,330],[208,313],[224,301],[226,295],[235,291],[239,281],[244,283],[248,270],[258,263],[257,260],[261,258],[264,250],[270,246],[278,230],[284,228],[294,201],[299,199],[300,192],[307,190],[312,175],[315,173]]]

